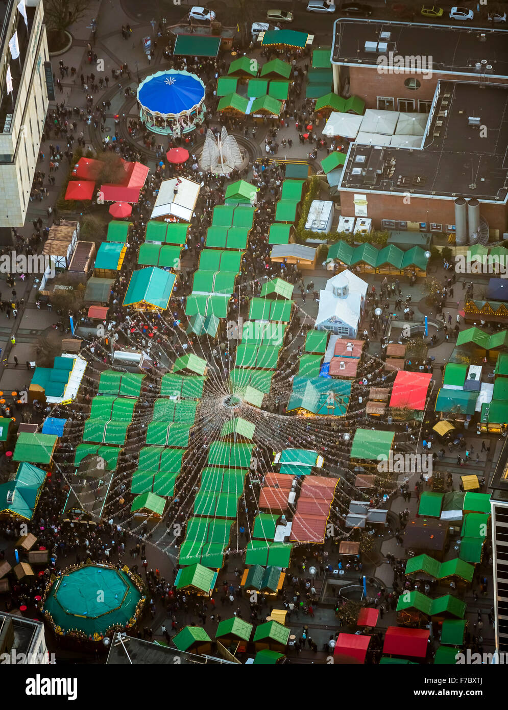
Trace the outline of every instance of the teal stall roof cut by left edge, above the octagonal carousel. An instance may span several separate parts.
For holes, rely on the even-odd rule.
[[[43,469],[25,461],[19,464],[13,481],[0,484],[0,515],[16,515],[31,520],[46,474]]]

